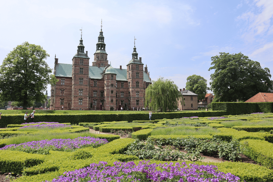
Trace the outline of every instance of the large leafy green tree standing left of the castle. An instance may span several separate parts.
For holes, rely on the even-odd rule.
[[[0,100],[23,102],[24,109],[31,100],[44,101],[47,84],[57,81],[47,57],[40,45],[24,42],[15,47],[0,66]]]

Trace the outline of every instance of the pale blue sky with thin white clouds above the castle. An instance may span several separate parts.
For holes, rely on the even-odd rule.
[[[191,75],[204,77],[210,87],[211,57],[219,52],[242,52],[273,74],[273,0],[3,1],[0,65],[26,41],[50,54],[50,68],[55,54],[59,63],[72,64],[80,29],[91,64],[101,21],[111,66],[126,68],[135,36],[151,79],[171,79],[179,89]]]

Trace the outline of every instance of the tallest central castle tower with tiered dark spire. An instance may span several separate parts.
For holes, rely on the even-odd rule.
[[[105,67],[108,65],[108,54],[105,51],[105,46],[106,44],[104,43],[104,36],[101,25],[100,35],[98,36],[98,42],[96,44],[96,52],[94,54],[94,61],[92,62],[92,66]]]

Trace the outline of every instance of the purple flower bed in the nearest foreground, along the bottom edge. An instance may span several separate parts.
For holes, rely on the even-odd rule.
[[[114,162],[114,166],[107,166],[107,162],[92,163],[90,167],[65,172],[64,176],[53,179],[52,182],[69,181],[240,181],[231,174],[219,172],[214,165],[197,165],[186,162],[149,164],[150,161]],[[49,181],[46,181],[49,182]]]

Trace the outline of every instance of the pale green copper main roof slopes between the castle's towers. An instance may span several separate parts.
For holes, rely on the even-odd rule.
[[[102,71],[105,67],[89,66],[89,78],[102,79]],[[108,69],[108,68],[107,68]],[[106,70],[107,70],[106,69]],[[127,81],[127,69],[111,68],[113,74],[117,74],[116,80]],[[56,77],[72,77],[72,64],[58,63],[56,64]],[[151,83],[146,72],[143,72],[143,81]]]

